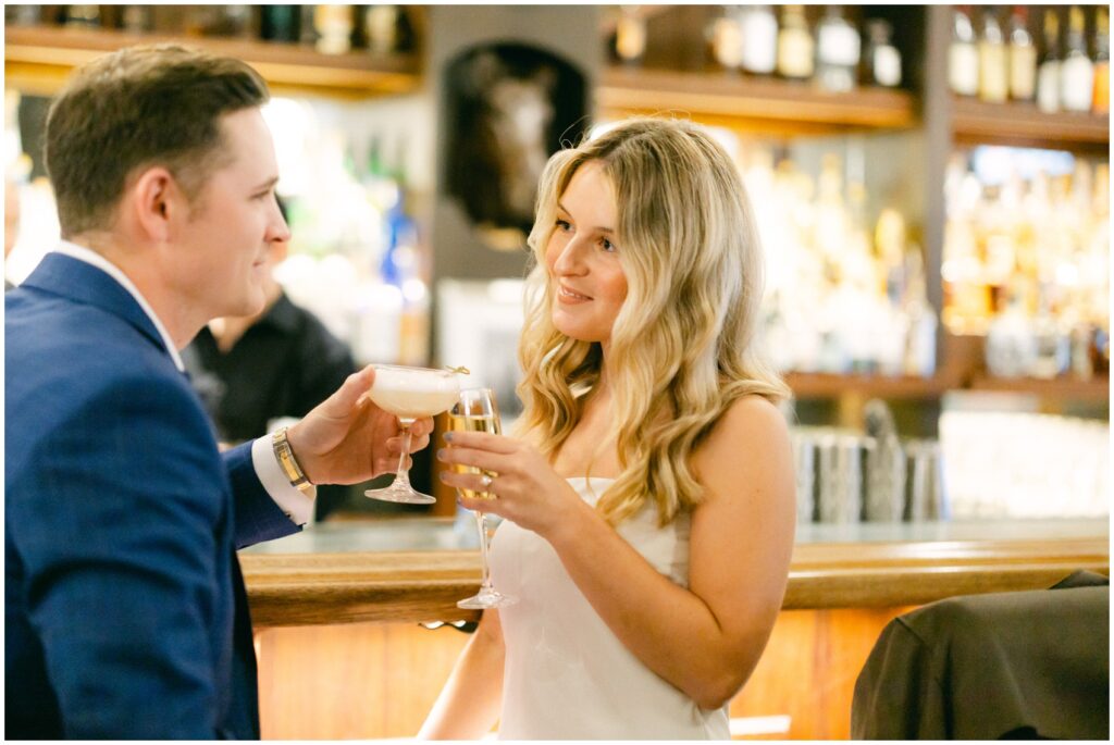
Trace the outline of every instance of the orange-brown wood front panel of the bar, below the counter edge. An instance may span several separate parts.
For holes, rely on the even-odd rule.
[[[784,611],[731,704],[732,717],[789,716],[784,735],[842,739],[854,680],[882,627],[908,608]],[[266,739],[413,736],[468,636],[417,624],[284,627],[256,635]]]

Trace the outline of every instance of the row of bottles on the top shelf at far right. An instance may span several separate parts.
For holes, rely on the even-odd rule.
[[[1008,20],[1005,10],[979,6],[976,18],[970,6],[954,9],[948,82],[955,94],[993,104],[1035,101],[1048,114],[1110,111],[1107,7],[1085,12],[1072,6],[1066,23],[1061,7],[1014,6]]]

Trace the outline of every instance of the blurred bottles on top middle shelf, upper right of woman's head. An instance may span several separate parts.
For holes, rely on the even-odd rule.
[[[646,18],[637,6],[623,6],[614,53],[637,63],[646,51]],[[784,80],[811,81],[833,92],[857,86],[901,85],[901,53],[893,29],[882,18],[859,29],[841,6],[828,6],[810,24],[805,6],[724,6],[705,30],[709,59],[722,70]]]

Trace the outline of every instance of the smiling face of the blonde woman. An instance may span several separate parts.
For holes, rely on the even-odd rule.
[[[557,224],[546,246],[553,283],[553,322],[566,336],[606,345],[626,300],[615,245],[615,190],[598,160],[577,168],[557,200]]]

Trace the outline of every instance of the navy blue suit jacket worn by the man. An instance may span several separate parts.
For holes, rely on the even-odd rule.
[[[258,737],[235,549],[297,528],[135,298],[48,254],[6,303],[4,735]]]

